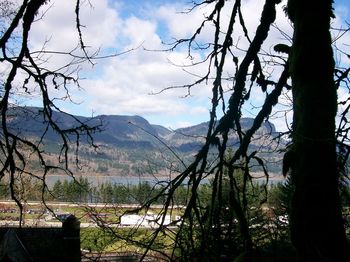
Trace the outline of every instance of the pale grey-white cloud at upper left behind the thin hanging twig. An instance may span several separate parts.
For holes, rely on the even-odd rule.
[[[80,7],[80,23],[86,50],[93,54],[99,48],[116,46],[116,36],[121,30],[121,20],[118,13],[108,6],[107,0],[90,0],[92,6],[83,2]],[[32,51],[71,52],[80,45],[76,28],[75,1],[50,1],[41,9],[38,19],[30,31]],[[43,46],[45,44],[45,46]],[[82,55],[77,49],[74,54]],[[69,63],[72,57],[50,54],[42,56],[49,59],[46,67],[53,69]]]

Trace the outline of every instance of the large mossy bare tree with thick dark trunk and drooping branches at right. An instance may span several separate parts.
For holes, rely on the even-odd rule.
[[[340,128],[335,126],[337,88],[340,83],[343,88],[348,85],[349,68],[335,68],[330,34],[332,1],[324,1],[322,4],[317,1],[288,1],[285,11],[294,27],[291,46],[276,44],[275,53],[267,54],[262,46],[275,22],[276,5],[280,2],[265,1],[260,24],[252,38],[245,25],[241,10],[244,3],[241,1],[195,3],[194,8],[209,6],[212,11],[192,37],[178,40],[174,44],[174,48],[187,44],[189,56],[198,49],[205,50],[208,54],[200,62],[208,64],[208,71],[193,84],[183,87],[190,90],[197,84],[214,79],[206,142],[195,160],[164,191],[168,196],[164,208],[166,213],[171,207],[176,188],[189,178],[188,202],[175,240],[175,250],[181,249],[184,260],[215,261],[219,257],[232,259],[229,256],[235,246],[233,239],[237,235],[236,222],[241,238],[238,243],[242,247],[238,252],[254,254],[256,242],[252,236],[245,196],[247,185],[253,179],[249,166],[253,161],[261,165],[267,179],[268,172],[259,152],[251,150],[249,145],[258,128],[271,117],[281,94],[288,90],[292,92],[294,117],[290,133],[292,143],[285,154],[283,170],[285,175],[291,175],[295,190],[289,219],[297,259],[344,261],[349,258],[349,244],[339,197],[340,170],[344,170],[349,154],[346,142],[348,127],[344,125],[347,123],[348,107],[340,114]],[[222,17],[228,13],[229,22],[224,23]],[[213,41],[200,43],[199,35],[209,24],[215,29]],[[237,54],[239,50],[234,43],[237,27],[242,29],[249,42],[242,58]],[[348,30],[343,30],[340,35],[344,32]],[[276,63],[276,60],[279,62]],[[232,68],[229,66],[232,61],[236,70],[230,73],[232,77],[225,78],[227,68]],[[269,65],[279,67],[276,70],[280,72],[279,76],[268,74]],[[224,90],[225,85],[230,86],[228,91]],[[250,129],[242,130],[242,108],[249,103],[254,89],[261,89],[265,100]],[[224,99],[225,92],[230,94],[228,101]],[[347,100],[339,103],[348,104]],[[217,120],[219,105],[224,109],[224,116]],[[232,154],[227,154],[230,132],[237,134],[239,145]],[[341,151],[338,157],[337,148]],[[210,154],[215,151],[215,161],[209,159],[209,151]],[[203,206],[198,197],[198,188],[202,179],[208,176],[213,177],[212,204]],[[225,224],[223,214],[217,212],[217,208],[224,207],[223,184],[227,177],[230,185],[230,219]],[[238,183],[239,179],[242,179],[243,184]],[[243,192],[242,199],[238,197],[239,192]]]

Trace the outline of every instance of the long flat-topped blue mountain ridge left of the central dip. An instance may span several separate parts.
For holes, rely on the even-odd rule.
[[[48,128],[47,119],[43,117],[41,108],[15,107],[10,110],[10,129],[12,132],[27,138],[44,139],[50,142],[60,140],[57,132]],[[113,147],[153,147],[156,129],[140,116],[101,115],[93,118],[70,116],[61,112],[52,112],[52,119],[62,130],[69,130],[80,123],[91,127],[99,127],[93,134],[94,141]],[[73,137],[74,134],[72,134]]]

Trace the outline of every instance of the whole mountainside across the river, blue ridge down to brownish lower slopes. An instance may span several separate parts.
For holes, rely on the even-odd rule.
[[[50,127],[42,115],[41,108],[12,108],[10,127],[14,133],[36,141],[46,152],[49,164],[55,164],[57,155],[62,153],[58,146],[60,136]],[[112,176],[167,176],[169,170],[181,171],[184,163],[189,163],[205,142],[208,123],[169,130],[166,127],[152,125],[140,116],[101,115],[93,118],[65,115],[53,112],[53,118],[65,130],[72,129],[77,121],[95,127],[92,136],[80,137],[78,146],[72,143],[69,151],[71,169],[78,175]],[[242,118],[242,130],[248,130],[253,119]],[[42,134],[44,134],[42,136]],[[72,141],[74,141],[72,133]],[[250,150],[259,150],[267,160],[270,172],[280,172],[281,156],[278,153],[278,141],[275,127],[265,122],[259,129]],[[238,136],[232,132],[229,144],[239,144]],[[93,141],[96,147],[88,144]],[[213,144],[213,146],[215,146]],[[76,160],[78,157],[78,165]],[[30,163],[32,169],[39,168],[38,162]],[[254,169],[254,167],[252,167]],[[256,170],[259,171],[259,170]],[[261,171],[261,170],[260,170]],[[59,171],[57,171],[59,173]]]

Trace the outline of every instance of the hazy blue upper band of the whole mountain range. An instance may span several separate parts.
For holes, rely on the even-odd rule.
[[[70,129],[78,125],[78,121],[89,126],[100,126],[101,131],[93,135],[95,143],[109,147],[154,148],[159,144],[156,137],[180,151],[194,151],[204,143],[208,130],[208,122],[198,125],[169,130],[160,125],[151,125],[141,116],[100,115],[94,118],[82,116],[71,117],[68,114],[52,112],[53,119],[62,129]],[[16,107],[11,109],[11,129],[26,137],[40,136],[47,129],[47,120],[43,117],[41,108]],[[242,130],[248,130],[253,125],[252,118],[242,118]],[[275,133],[275,127],[265,122],[259,129],[259,135]],[[58,141],[59,136],[52,129],[46,130],[44,138]],[[230,136],[231,144],[237,142],[236,135]]]

